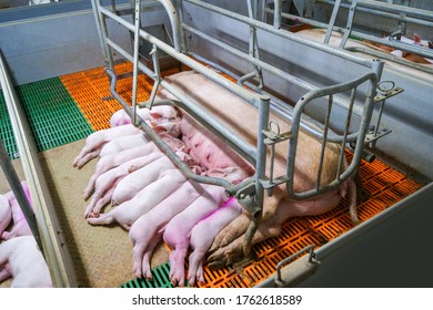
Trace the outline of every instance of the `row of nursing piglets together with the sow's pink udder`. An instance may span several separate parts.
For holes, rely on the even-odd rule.
[[[170,106],[153,108],[179,112]],[[88,154],[99,154],[100,157],[84,189],[84,198],[93,192],[85,209],[87,220],[91,225],[115,221],[130,230],[134,245],[133,271],[138,277],[151,278],[150,258],[154,247],[164,240],[172,249],[171,281],[183,286],[184,260],[191,245],[194,252],[190,257],[189,281],[191,285],[195,282],[195,278],[203,281],[202,264],[213,237],[242,208],[235,200],[226,197],[224,188],[187,179],[153,142],[145,140],[143,133],[139,133],[141,143],[119,147],[121,144],[127,145],[137,135],[131,131],[132,125],[128,124],[127,115],[124,117],[128,118],[120,121],[121,113],[120,111],[113,115],[115,123],[121,125],[91,134],[83,151],[74,159],[75,164],[83,163],[82,158],[90,158]],[[204,135],[203,130],[198,130],[199,125],[187,114],[182,116],[178,122],[173,122],[175,117],[165,118],[165,123],[161,120],[148,121],[159,127],[160,136],[194,173],[224,178],[233,184],[254,174],[253,167],[239,155],[225,145],[218,144],[214,138],[209,138],[210,135]],[[113,117],[111,124],[114,123]],[[179,131],[173,131],[172,127],[178,127]],[[117,152],[108,154],[108,147]],[[101,214],[101,208],[110,200],[117,207]],[[207,227],[208,232],[192,234],[195,225]]]

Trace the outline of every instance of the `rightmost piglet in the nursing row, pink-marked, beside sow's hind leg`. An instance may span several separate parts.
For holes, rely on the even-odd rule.
[[[241,215],[242,210],[242,206],[233,197],[210,216],[201,219],[192,228],[190,234],[190,246],[193,251],[189,258],[188,270],[188,281],[190,286],[195,283],[195,279],[200,282],[204,282],[203,259],[212,245],[213,238],[222,228]]]

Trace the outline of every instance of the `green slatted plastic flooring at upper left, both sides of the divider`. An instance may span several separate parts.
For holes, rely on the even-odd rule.
[[[91,126],[58,78],[16,87],[38,151],[75,142],[92,133]],[[9,156],[19,157],[12,126],[0,92],[0,134]]]

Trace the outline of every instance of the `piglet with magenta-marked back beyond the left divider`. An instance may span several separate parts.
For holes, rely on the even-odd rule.
[[[30,190],[26,180],[21,182],[21,187],[24,190],[26,197],[29,200],[30,206],[33,207],[30,199]],[[6,196],[11,207],[13,226],[10,231],[3,231],[3,234],[1,234],[1,239],[9,240],[18,236],[32,235],[29,224],[27,223],[26,217],[22,214],[21,207],[18,204],[18,200],[13,195],[13,192],[12,190],[8,192]]]

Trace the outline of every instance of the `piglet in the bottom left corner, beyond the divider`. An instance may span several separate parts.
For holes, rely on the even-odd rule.
[[[12,288],[50,288],[50,272],[33,236],[0,244],[0,282],[12,277]]]

